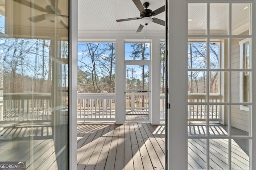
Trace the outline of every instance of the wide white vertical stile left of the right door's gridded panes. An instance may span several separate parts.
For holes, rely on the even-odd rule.
[[[168,11],[168,169],[186,170],[186,0],[169,0]]]

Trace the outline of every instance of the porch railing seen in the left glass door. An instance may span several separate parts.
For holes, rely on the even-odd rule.
[[[50,120],[50,93],[5,93],[0,103],[0,121]]]

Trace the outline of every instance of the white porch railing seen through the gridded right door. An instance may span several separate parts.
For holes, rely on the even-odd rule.
[[[218,105],[221,100],[220,95],[210,95],[209,102],[213,104],[207,108],[205,94],[188,94],[188,121],[206,121],[207,109],[210,121],[221,121],[221,106]]]

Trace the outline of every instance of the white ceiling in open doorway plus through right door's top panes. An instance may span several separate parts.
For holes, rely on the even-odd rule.
[[[165,5],[165,0],[141,0],[149,2],[152,11]],[[248,4],[232,4],[232,27],[249,19]],[[188,30],[205,31],[207,5],[188,5]],[[210,30],[228,31],[228,4],[210,4]],[[140,12],[132,0],[78,0],[78,32],[79,31],[134,31],[138,29],[140,20],[116,22],[118,19],[140,17]],[[165,20],[165,13],[152,18]],[[164,31],[162,25],[151,23],[147,31]]]

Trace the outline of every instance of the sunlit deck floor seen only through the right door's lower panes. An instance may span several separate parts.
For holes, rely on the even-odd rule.
[[[228,126],[211,124],[209,126],[210,135],[218,137],[228,136]],[[248,136],[248,133],[232,127],[232,135]],[[205,124],[188,125],[189,136],[205,136]],[[206,169],[206,139],[188,139],[188,169]],[[209,166],[214,170],[228,169],[228,139],[209,140]],[[249,141],[248,139],[231,139],[231,169],[249,169]]]

